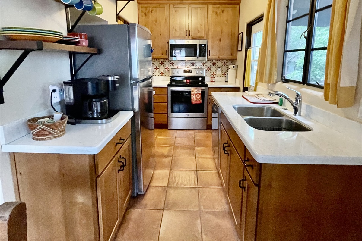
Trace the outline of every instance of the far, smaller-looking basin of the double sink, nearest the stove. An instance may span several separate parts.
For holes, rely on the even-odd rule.
[[[233,106],[240,116],[265,116],[265,117],[281,117],[282,112],[265,106]]]

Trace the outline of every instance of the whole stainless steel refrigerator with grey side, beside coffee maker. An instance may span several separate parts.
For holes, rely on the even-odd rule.
[[[76,32],[87,33],[89,47],[99,48],[76,74],[76,78],[118,75],[121,86],[110,92],[113,110],[134,111],[132,117],[132,194],[145,193],[155,167],[151,32],[144,26],[80,25]],[[75,55],[76,68],[88,56]],[[76,69],[75,68],[75,69]]]

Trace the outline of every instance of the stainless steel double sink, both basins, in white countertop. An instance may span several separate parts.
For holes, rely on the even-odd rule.
[[[284,113],[266,106],[233,106],[249,126],[274,132],[310,132],[312,129]]]

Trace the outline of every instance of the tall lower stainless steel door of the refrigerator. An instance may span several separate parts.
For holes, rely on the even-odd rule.
[[[156,162],[152,77],[133,83],[132,88],[138,169],[138,187],[135,188],[138,194],[143,194],[150,184]]]

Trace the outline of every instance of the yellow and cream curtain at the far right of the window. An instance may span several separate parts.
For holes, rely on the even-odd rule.
[[[350,6],[351,2],[353,5]],[[351,107],[354,104],[356,86],[344,85],[344,87],[341,87],[341,65],[344,42],[346,41],[345,37],[348,38],[345,35],[347,24],[353,25],[359,21],[359,29],[361,29],[361,13],[359,17],[357,14],[351,16],[350,19],[348,18],[350,7],[352,7],[353,12],[357,6],[361,8],[361,5],[358,5],[358,0],[333,0],[332,3],[331,25],[325,64],[324,99],[330,104],[337,104],[337,108]],[[352,31],[358,31],[358,29]],[[356,48],[355,51],[359,51],[359,48]]]

